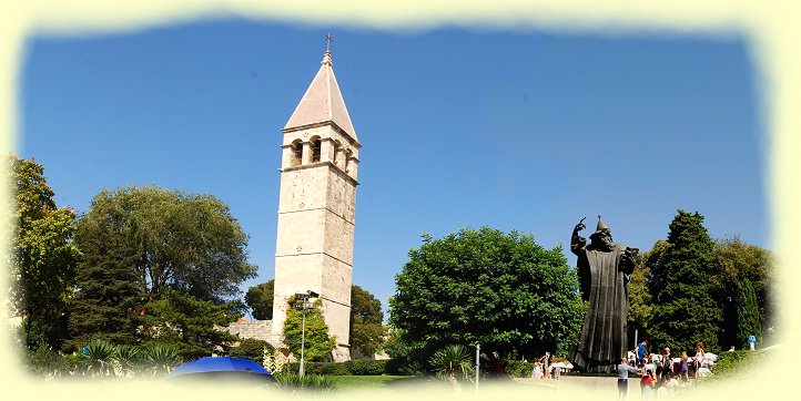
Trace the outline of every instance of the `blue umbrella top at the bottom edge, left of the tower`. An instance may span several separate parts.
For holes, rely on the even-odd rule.
[[[274,382],[275,379],[261,364],[245,358],[203,357],[173,369],[168,379],[255,379]]]

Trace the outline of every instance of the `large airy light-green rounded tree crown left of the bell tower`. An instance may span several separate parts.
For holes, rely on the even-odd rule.
[[[132,259],[148,300],[171,287],[222,302],[255,276],[256,267],[246,261],[247,236],[227,205],[212,195],[152,186],[103,191],[83,218],[97,222],[88,225],[87,235],[104,238],[122,230],[120,249],[112,255]]]

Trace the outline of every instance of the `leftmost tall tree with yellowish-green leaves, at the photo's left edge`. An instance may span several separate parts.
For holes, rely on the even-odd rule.
[[[12,311],[24,317],[24,343],[60,347],[67,335],[68,300],[80,251],[72,244],[75,215],[57,208],[44,168],[14,155],[10,164],[13,234],[10,282]]]

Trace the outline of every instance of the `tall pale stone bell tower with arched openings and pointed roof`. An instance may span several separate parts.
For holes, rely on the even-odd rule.
[[[283,130],[273,336],[282,338],[287,299],[320,294],[334,360],[351,358],[349,319],[358,151],[331,52]]]

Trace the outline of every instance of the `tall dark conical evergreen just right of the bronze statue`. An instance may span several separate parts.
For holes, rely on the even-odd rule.
[[[720,268],[703,216],[678,210],[667,241],[659,246],[660,251],[652,251],[647,260],[653,300],[651,342],[677,351],[692,350],[699,341],[709,350],[720,349],[723,313],[713,282]]]

